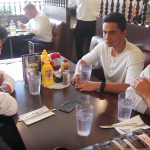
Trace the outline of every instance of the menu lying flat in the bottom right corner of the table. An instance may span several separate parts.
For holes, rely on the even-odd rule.
[[[81,150],[150,150],[150,128],[120,135]]]

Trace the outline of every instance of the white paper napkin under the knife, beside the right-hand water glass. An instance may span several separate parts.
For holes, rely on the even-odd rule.
[[[126,120],[126,121],[123,121],[123,122],[120,122],[120,123],[117,123],[117,125],[121,125],[121,124],[129,124],[129,123],[137,123],[137,125],[141,125],[143,124],[144,122],[142,121],[141,117],[138,115],[138,116],[135,116],[129,120]],[[120,129],[128,129],[132,126],[123,126],[123,127],[115,127],[115,129],[122,135],[122,134],[126,134],[125,132],[123,132],[122,130]],[[141,127],[133,127],[129,130],[129,132],[132,132],[132,131],[135,131],[135,130],[138,130],[138,129],[148,129],[150,128],[148,125],[145,125],[145,126],[141,126]]]

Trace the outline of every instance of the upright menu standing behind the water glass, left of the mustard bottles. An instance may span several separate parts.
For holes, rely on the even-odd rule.
[[[28,87],[27,73],[33,70],[41,71],[41,55],[37,53],[22,55],[23,82]]]

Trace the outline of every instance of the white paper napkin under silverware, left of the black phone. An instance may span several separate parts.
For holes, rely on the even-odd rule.
[[[21,115],[21,116],[19,116],[19,118],[24,118],[24,117],[26,117],[26,116],[32,115],[32,113],[35,113],[35,112],[37,112],[37,111],[40,111],[40,109],[42,109],[42,111],[44,111],[44,112],[49,110],[46,106],[43,106],[43,107],[41,107],[41,108],[39,108],[39,109],[36,109],[36,110],[34,110],[34,111],[31,111],[31,112],[28,112],[28,113],[26,113],[26,114]],[[32,124],[32,123],[35,123],[35,122],[37,122],[37,121],[40,121],[40,120],[42,120],[42,119],[44,119],[44,118],[47,118],[47,117],[49,117],[49,116],[52,116],[52,115],[54,115],[54,114],[55,114],[55,113],[53,113],[52,111],[50,111],[50,112],[44,113],[44,114],[42,114],[42,115],[36,116],[36,117],[34,117],[34,118],[25,120],[24,122],[25,122],[27,125],[30,125],[30,124]]]

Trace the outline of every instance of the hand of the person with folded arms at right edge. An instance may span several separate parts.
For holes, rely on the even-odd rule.
[[[136,92],[142,96],[144,99],[146,99],[149,96],[150,93],[150,84],[148,80],[143,77],[139,77],[134,80],[131,87],[136,90]]]

